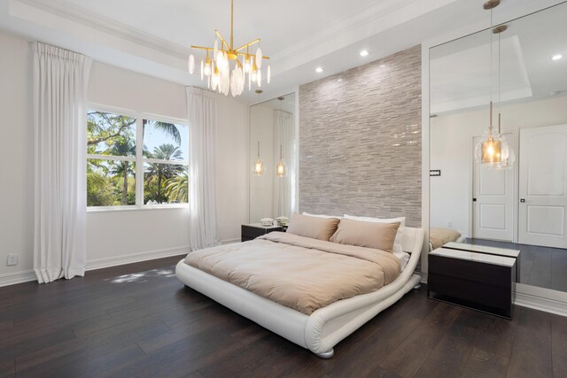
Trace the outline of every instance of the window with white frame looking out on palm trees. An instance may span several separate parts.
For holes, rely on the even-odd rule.
[[[187,125],[89,110],[87,205],[136,208],[187,204],[188,158]]]

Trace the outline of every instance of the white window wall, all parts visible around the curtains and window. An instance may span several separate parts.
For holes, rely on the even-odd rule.
[[[29,42],[0,33],[0,286],[33,277],[32,53]],[[89,103],[187,118],[183,85],[94,62]],[[239,240],[247,221],[248,105],[218,96],[217,201],[221,240]],[[87,268],[183,253],[186,209],[87,214]],[[17,266],[6,266],[8,254]]]

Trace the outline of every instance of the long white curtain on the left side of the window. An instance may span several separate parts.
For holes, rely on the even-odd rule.
[[[84,275],[91,59],[35,42],[34,271],[37,281]]]

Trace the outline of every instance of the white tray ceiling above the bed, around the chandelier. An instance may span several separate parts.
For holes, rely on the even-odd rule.
[[[260,101],[421,42],[487,27],[485,0],[235,0],[235,44],[260,37],[272,82]],[[502,0],[495,18],[556,0]],[[229,37],[229,0],[0,0],[0,29],[183,85],[190,44]],[[369,50],[366,58],[358,52]],[[323,73],[315,73],[322,66]],[[253,93],[239,97],[257,102]]]

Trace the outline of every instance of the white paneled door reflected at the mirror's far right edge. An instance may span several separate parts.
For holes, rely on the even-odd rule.
[[[567,125],[520,130],[518,242],[567,248]]]

